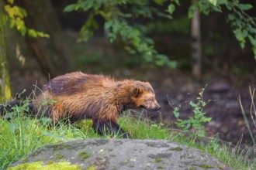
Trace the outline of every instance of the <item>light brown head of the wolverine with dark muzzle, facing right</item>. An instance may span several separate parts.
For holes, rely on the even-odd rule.
[[[136,107],[142,107],[149,111],[160,110],[156,96],[150,83],[136,81],[137,86],[133,88],[132,100]]]

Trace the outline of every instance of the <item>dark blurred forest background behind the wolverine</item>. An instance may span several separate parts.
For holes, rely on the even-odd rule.
[[[200,13],[199,18],[192,18],[195,19],[193,25],[192,19],[188,17],[193,1],[180,1],[179,5],[175,4],[174,12],[172,6],[168,9],[171,13],[169,18],[159,15],[126,18],[125,15],[128,14],[133,16],[133,6],[150,6],[151,9],[157,8],[156,12],[165,12],[170,4],[166,1],[161,5],[161,1],[145,5],[142,2],[147,1],[139,2],[140,5],[134,5],[134,2],[115,7],[123,12],[126,23],[134,27],[135,23],[140,23],[143,26],[140,30],[143,30],[144,36],[150,39],[147,42],[152,45],[151,41],[154,41],[152,48],[157,54],[163,54],[162,58],[166,56],[169,60],[175,61],[174,63],[166,66],[164,63],[167,61],[158,64],[154,61],[147,62],[147,56],[142,57],[141,53],[127,50],[126,39],[123,40],[122,36],[117,36],[111,41],[109,28],[106,26],[107,17],[104,18],[102,15],[94,15],[94,22],[97,24],[91,29],[93,35],[92,32],[86,32],[87,21],[92,11],[96,10],[67,8],[67,5],[75,4],[77,1],[16,1],[17,5],[26,9],[26,26],[45,32],[50,38],[22,36],[6,26],[12,96],[22,93],[24,89],[26,92],[22,95],[28,96],[35,86],[42,87],[43,83],[47,83],[54,76],[78,70],[110,75],[121,80],[143,80],[152,84],[162,108],[161,113],[147,113],[147,117],[172,126],[176,119],[171,105],[181,107],[182,118],[189,117],[192,115],[189,102],[195,100],[202,88],[206,87],[204,99],[212,100],[206,106],[206,116],[213,117],[213,120],[206,124],[207,135],[219,134],[221,139],[234,144],[240,138],[243,138],[242,142],[250,141],[251,137],[247,132],[237,97],[240,95],[250,118],[249,86],[252,89],[256,87],[256,60],[251,45],[241,49],[240,42],[234,36],[234,29],[227,22],[230,11],[223,8],[222,12],[209,12],[208,15]],[[253,9],[247,11],[247,14],[255,17],[256,2],[242,2],[253,5]],[[147,13],[146,7],[144,10]],[[64,8],[68,12],[64,12]],[[122,28],[121,26],[120,29]],[[129,32],[128,29],[126,34],[129,36],[134,32]],[[196,59],[195,55],[198,53],[201,56]],[[199,72],[193,71],[196,65],[199,65]],[[174,66],[176,67],[170,68]],[[256,98],[253,100],[255,103]],[[251,119],[250,122],[253,128]],[[253,128],[253,133],[256,134],[256,128]]]

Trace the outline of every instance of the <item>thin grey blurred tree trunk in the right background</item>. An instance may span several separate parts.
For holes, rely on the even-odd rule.
[[[192,3],[197,0],[192,0]],[[202,46],[201,46],[201,30],[200,30],[200,15],[199,10],[196,10],[191,22],[192,36],[192,76],[196,80],[201,80],[201,63],[202,63]]]

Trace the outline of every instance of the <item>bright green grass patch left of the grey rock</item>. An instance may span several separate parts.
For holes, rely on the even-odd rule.
[[[43,124],[42,120],[16,117],[0,118],[0,169],[18,161],[24,155],[43,146],[74,139],[99,138],[92,128],[76,128],[71,124]]]

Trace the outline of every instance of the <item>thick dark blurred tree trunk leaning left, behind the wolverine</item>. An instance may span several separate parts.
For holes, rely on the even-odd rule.
[[[50,34],[50,39],[32,38],[26,36],[26,43],[33,56],[40,64],[45,76],[56,76],[62,71],[71,69],[71,55],[69,46],[57,19],[54,8],[49,0],[17,1],[26,9],[28,16],[26,26],[36,31]]]

